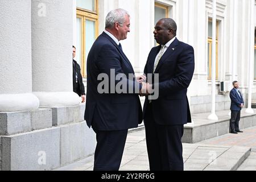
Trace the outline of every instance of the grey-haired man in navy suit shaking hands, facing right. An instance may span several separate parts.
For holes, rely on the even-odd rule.
[[[127,32],[130,32],[127,11],[110,11],[106,16],[105,31],[94,42],[88,55],[85,120],[96,133],[94,170],[97,171],[119,169],[127,131],[142,122],[139,90],[146,84],[139,83],[135,77],[127,79],[129,74],[134,76],[134,70],[119,43],[127,38]],[[111,84],[110,80],[120,74],[122,78]],[[106,82],[110,85],[100,86],[99,77],[104,76],[108,76]],[[115,86],[121,82],[127,89],[118,93]],[[129,89],[132,92],[128,92]]]

